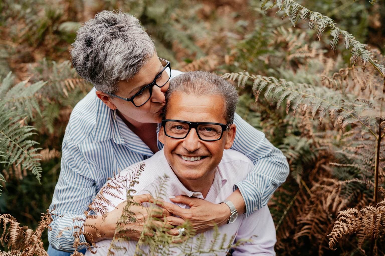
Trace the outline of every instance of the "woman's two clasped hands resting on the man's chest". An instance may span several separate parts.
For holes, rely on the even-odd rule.
[[[138,204],[144,202],[154,202],[150,194],[134,196],[134,201]],[[192,225],[192,229],[196,233],[202,233],[210,230],[214,227],[214,224],[221,226],[227,223],[230,216],[230,209],[226,204],[213,204],[203,199],[187,196],[176,196],[170,199],[173,202],[186,204],[190,208],[183,209],[175,204],[158,200],[157,204],[162,207],[161,211],[149,211],[146,207],[131,206],[130,211],[134,212],[136,216],[136,222],[127,223],[123,228],[130,229],[127,233],[132,240],[138,241],[144,228],[144,224],[148,221],[148,214],[151,212],[151,216],[162,219],[166,218],[166,228],[170,229],[170,234],[177,236],[179,231],[174,226],[181,226],[186,219]],[[96,219],[87,219],[85,222],[85,233],[92,234],[92,240],[94,243],[103,239],[112,239],[115,234],[116,223],[121,218],[123,209],[126,206],[127,201],[120,203],[114,210],[109,212],[107,218],[102,220],[102,216],[98,216]],[[175,216],[179,216],[175,217]],[[161,221],[153,221],[152,225],[163,226]],[[95,226],[101,236],[97,236],[95,229],[91,226]],[[153,234],[148,234],[153,235]],[[88,243],[91,242],[90,236],[85,236]]]

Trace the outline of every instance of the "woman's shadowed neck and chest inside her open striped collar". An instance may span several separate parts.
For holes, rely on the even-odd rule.
[[[159,151],[156,134],[157,124],[137,122],[136,120],[123,115],[119,111],[116,111],[116,114],[119,115],[124,124],[126,124],[128,128],[130,128],[131,131],[134,132],[134,134],[136,134],[153,153]]]

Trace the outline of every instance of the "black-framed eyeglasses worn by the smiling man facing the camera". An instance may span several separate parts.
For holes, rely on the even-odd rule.
[[[199,139],[202,141],[219,141],[229,125],[208,122],[186,122],[172,119],[162,120],[164,133],[166,136],[174,139],[184,139],[191,129],[195,129]]]

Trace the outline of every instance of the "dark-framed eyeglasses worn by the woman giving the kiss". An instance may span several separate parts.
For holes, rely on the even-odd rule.
[[[140,107],[141,105],[145,104],[152,95],[152,87],[156,85],[157,87],[162,87],[163,85],[167,84],[167,82],[170,80],[171,77],[171,65],[168,60],[164,60],[161,58],[158,58],[163,66],[162,71],[155,77],[154,81],[152,81],[151,84],[144,87],[142,90],[137,92],[134,96],[131,98],[123,98],[119,97],[115,94],[110,94],[106,92],[106,94],[117,97],[122,100],[131,101],[132,104],[134,104],[135,107]]]

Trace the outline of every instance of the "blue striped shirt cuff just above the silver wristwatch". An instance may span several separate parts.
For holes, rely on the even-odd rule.
[[[246,206],[246,218],[254,211],[262,208],[261,193],[256,189],[255,184],[244,180],[236,183],[233,187],[233,191],[237,188],[241,191]]]

